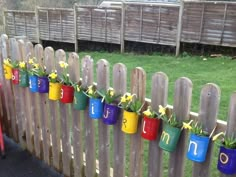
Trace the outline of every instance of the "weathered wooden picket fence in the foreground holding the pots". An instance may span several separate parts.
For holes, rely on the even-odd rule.
[[[68,58],[62,49],[43,48],[31,42],[1,35],[1,117],[4,121],[5,133],[19,142],[36,157],[54,167],[65,176],[75,177],[182,177],[187,168],[186,142],[188,134],[183,131],[177,149],[165,154],[159,147],[158,136],[155,141],[144,141],[141,138],[141,116],[138,132],[125,135],[121,132],[121,116],[114,126],[107,126],[100,120],[92,120],[85,111],[74,110],[71,104],[50,101],[48,94],[31,93],[28,88],[13,85],[3,76],[2,61],[10,57],[12,60],[28,61],[36,57],[47,66],[47,71],[58,68],[58,61],[69,63],[69,74],[73,81],[81,79],[83,86],[97,83],[98,89],[113,87],[119,94],[128,92],[127,77],[130,79],[130,92],[146,101],[153,108],[167,105],[168,77],[163,72],[152,76],[151,100],[146,99],[146,73],[141,67],[135,67],[130,76],[122,63],[115,64],[110,74],[110,65],[105,59],[96,63],[91,56],[79,59],[76,53]],[[94,72],[94,69],[96,71]],[[96,73],[96,80],[94,80]],[[60,73],[59,73],[60,74]],[[110,83],[112,83],[110,85]],[[199,112],[190,112],[192,99],[192,82],[181,77],[175,82],[173,112],[178,120],[198,119],[206,131],[211,132],[217,125],[216,132],[226,131],[227,135],[236,132],[236,92],[231,96],[228,124],[217,120],[220,103],[220,88],[212,83],[203,86],[200,96]],[[192,163],[193,177],[214,176],[219,172],[211,170],[214,143],[210,143],[207,160],[204,163]],[[127,155],[128,154],[128,155]],[[167,159],[167,160],[164,160]],[[169,163],[167,162],[169,159]],[[167,166],[163,164],[168,163]],[[188,167],[189,168],[189,167]]]

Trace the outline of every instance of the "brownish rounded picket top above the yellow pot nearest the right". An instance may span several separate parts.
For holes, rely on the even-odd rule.
[[[136,67],[131,73],[131,93],[136,94],[141,101],[146,96],[146,72],[141,67]]]

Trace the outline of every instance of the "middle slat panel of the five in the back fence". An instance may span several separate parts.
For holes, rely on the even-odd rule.
[[[121,8],[75,5],[75,9],[77,39],[121,43]]]

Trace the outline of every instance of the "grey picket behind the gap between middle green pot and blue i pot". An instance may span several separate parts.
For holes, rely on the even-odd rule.
[[[82,86],[84,88],[93,84],[93,59],[85,56],[82,59]],[[96,175],[95,166],[95,142],[94,142],[94,120],[88,116],[88,109],[84,111],[84,128],[85,128],[85,176],[94,177]]]

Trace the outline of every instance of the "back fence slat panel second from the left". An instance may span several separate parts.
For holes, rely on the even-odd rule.
[[[74,43],[73,9],[37,8],[41,40]]]

